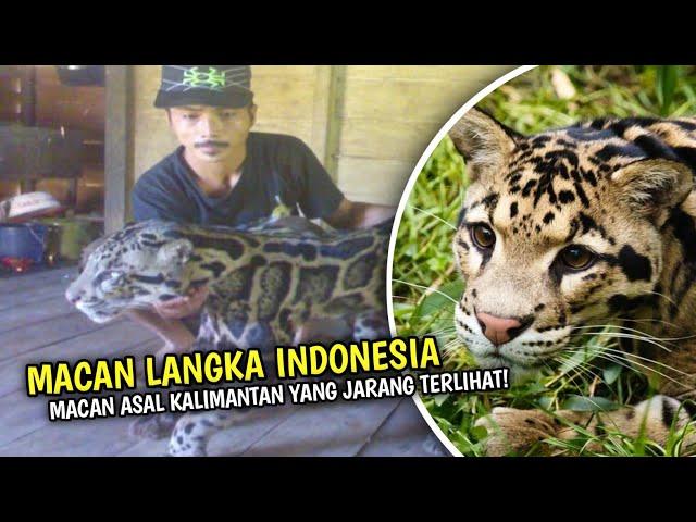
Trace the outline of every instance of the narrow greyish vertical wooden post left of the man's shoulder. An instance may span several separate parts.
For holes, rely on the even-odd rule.
[[[130,67],[107,65],[104,137],[104,229],[123,227],[128,211],[128,129],[130,114]]]

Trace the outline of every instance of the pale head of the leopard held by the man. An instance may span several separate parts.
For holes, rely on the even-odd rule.
[[[66,299],[92,321],[105,323],[126,309],[185,295],[194,246],[173,234],[175,226],[136,223],[109,236],[89,254]]]

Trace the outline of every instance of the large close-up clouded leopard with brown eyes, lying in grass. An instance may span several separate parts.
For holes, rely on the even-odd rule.
[[[581,434],[591,448],[608,433],[664,444],[696,413],[696,119],[524,136],[472,109],[449,136],[471,182],[452,243],[465,282],[455,326],[475,362],[534,381],[613,325],[623,355],[605,357],[655,390],[607,411],[494,408],[476,421],[485,452]]]

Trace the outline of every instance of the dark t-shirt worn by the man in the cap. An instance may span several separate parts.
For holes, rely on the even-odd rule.
[[[268,217],[278,204],[327,217],[344,198],[311,149],[293,136],[250,133],[241,175],[220,198],[201,191],[183,154],[179,147],[140,176],[132,194],[136,221],[234,226]]]

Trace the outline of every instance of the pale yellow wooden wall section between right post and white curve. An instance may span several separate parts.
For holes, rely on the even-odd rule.
[[[337,150],[339,187],[352,199],[398,203],[439,128],[511,67],[349,66]]]

